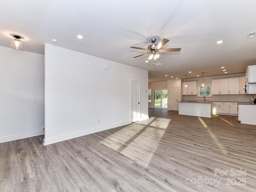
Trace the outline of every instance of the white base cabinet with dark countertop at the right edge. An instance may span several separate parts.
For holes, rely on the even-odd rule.
[[[256,125],[256,104],[238,103],[238,121],[242,124]]]

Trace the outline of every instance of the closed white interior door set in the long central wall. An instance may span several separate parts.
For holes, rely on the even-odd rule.
[[[132,81],[132,122],[140,120],[140,82]]]

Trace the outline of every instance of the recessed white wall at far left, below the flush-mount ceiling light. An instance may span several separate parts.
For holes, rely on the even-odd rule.
[[[0,143],[42,135],[43,127],[44,56],[0,46]]]

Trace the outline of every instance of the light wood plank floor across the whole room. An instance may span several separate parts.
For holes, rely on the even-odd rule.
[[[0,192],[255,192],[256,126],[149,109],[150,119],[43,146],[0,144]]]

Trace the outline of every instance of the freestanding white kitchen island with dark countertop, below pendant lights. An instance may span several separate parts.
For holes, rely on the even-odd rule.
[[[179,101],[179,115],[212,117],[212,102]]]

